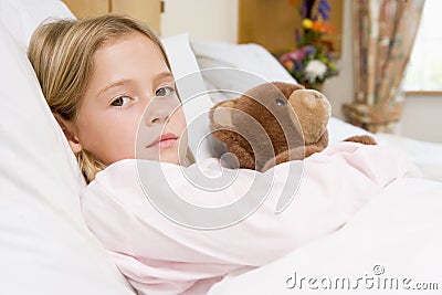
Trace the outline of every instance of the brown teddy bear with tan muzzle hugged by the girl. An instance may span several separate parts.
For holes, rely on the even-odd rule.
[[[259,171],[324,150],[329,117],[330,104],[323,93],[283,82],[255,86],[209,112],[212,137],[234,156],[236,168]],[[376,145],[367,135],[346,141]]]

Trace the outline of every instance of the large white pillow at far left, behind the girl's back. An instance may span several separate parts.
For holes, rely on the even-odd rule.
[[[134,294],[90,233],[82,178],[27,59],[0,23],[2,294]]]

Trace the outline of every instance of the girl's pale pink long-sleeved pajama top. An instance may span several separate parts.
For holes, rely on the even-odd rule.
[[[84,190],[83,213],[139,294],[204,294],[225,274],[267,264],[338,230],[390,182],[419,176],[408,160],[382,147],[340,143],[304,161],[296,193],[275,213],[285,185],[297,177],[292,176],[294,164],[302,167],[297,161],[271,169],[272,186],[263,202],[229,226],[201,230],[165,217],[147,198],[150,189],[168,191],[158,175],[182,200],[215,208],[240,200],[262,173],[236,170],[228,186],[210,190],[189,180],[186,171],[196,166],[161,164],[158,170],[158,162],[123,160],[98,173]],[[198,168],[213,178],[222,172],[215,159]],[[187,212],[176,211],[183,215],[176,220],[186,220]]]

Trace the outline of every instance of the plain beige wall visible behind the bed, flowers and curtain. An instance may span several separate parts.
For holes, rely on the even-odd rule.
[[[277,0],[281,1],[281,0]],[[238,0],[165,0],[161,19],[164,36],[189,32],[191,39],[236,43]],[[339,75],[328,80],[324,93],[332,103],[333,115],[343,118],[340,106],[350,102],[352,87],[351,0],[344,0],[343,52],[337,62]],[[400,135],[442,143],[442,96],[406,98]]]

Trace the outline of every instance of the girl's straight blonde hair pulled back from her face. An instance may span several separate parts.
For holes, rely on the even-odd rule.
[[[75,123],[92,77],[94,53],[131,33],[141,33],[158,45],[170,70],[159,38],[144,23],[122,14],[85,20],[57,20],[41,24],[31,38],[28,57],[53,114]],[[106,165],[87,150],[76,155],[86,181]]]

